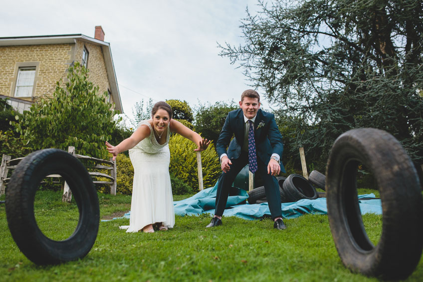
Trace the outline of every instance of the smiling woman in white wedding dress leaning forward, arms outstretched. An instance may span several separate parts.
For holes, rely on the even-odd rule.
[[[170,133],[176,132],[193,141],[198,146],[194,151],[203,151],[210,144],[198,133],[172,119],[172,108],[166,102],[154,104],[151,116],[151,119],[141,121],[131,137],[119,145],[106,142],[113,160],[119,153],[129,150],[134,167],[129,226],[120,227],[127,229],[126,232],[152,233],[153,225],[159,230],[168,230],[175,225],[169,175]]]

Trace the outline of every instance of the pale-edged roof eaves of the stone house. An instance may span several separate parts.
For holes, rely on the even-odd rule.
[[[86,41],[101,46],[104,62],[106,64],[107,77],[109,79],[110,90],[116,109],[123,113],[122,101],[120,99],[118,82],[116,79],[115,67],[113,64],[110,43],[101,41],[83,34],[63,34],[63,35],[39,35],[39,36],[19,36],[19,37],[0,37],[0,46],[12,45],[44,45],[44,44],[72,44],[76,39]]]

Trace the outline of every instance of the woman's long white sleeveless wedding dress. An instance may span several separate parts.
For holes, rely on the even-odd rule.
[[[148,120],[138,124],[150,128],[146,137],[129,150],[129,158],[134,167],[132,185],[131,214],[129,226],[121,226],[126,232],[138,232],[143,227],[163,222],[167,228],[175,225],[171,178],[169,175],[170,130],[167,128],[166,142],[160,145],[154,137],[153,128]]]

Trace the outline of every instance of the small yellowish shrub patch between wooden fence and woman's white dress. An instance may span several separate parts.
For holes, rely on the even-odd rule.
[[[131,195],[134,180],[134,167],[129,157],[119,154],[116,158],[116,193]]]

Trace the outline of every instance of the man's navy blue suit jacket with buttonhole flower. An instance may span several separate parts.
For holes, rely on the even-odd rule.
[[[257,129],[258,125],[263,126]],[[232,135],[235,138],[230,141]],[[259,109],[254,122],[254,139],[257,157],[267,166],[273,153],[280,156],[280,170],[285,172],[282,165],[283,141],[276,125],[275,116]],[[230,144],[229,144],[230,142]],[[217,155],[227,154],[229,159],[237,159],[241,154],[244,143],[244,113],[242,109],[230,111],[226,117],[219,139],[216,142]],[[226,147],[228,146],[227,151]]]

